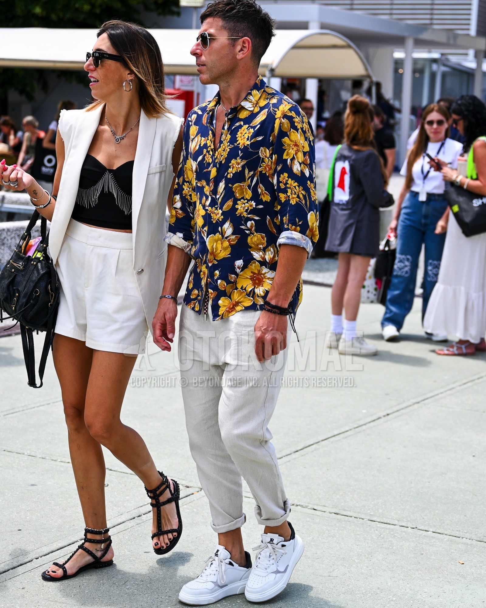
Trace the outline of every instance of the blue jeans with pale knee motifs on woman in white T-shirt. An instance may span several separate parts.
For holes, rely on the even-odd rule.
[[[430,294],[439,277],[440,259],[445,233],[435,234],[436,224],[447,209],[445,196],[427,195],[419,201],[418,192],[409,192],[403,201],[397,228],[397,257],[386,296],[382,327],[394,325],[401,330],[405,317],[414,303],[417,267],[422,243],[425,243],[425,272],[423,276],[422,319]]]

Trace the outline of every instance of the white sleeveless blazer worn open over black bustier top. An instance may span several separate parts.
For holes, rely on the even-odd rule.
[[[63,246],[76,201],[81,166],[100,123],[102,110],[103,106],[90,112],[85,109],[61,112],[59,132],[66,156],[50,224],[49,252],[54,263]],[[132,182],[133,271],[149,328],[162,293],[167,256],[167,244],[163,240],[165,211],[174,178],[172,153],[182,123],[182,119],[172,114],[149,118],[142,111],[140,116]]]

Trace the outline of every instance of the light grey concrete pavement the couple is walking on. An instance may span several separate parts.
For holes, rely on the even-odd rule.
[[[327,353],[329,300],[329,288],[304,288],[301,342],[292,340],[271,424],[290,519],[306,550],[270,605],[485,606],[486,355],[434,354],[419,299],[396,344],[381,340],[382,306],[362,306],[358,326],[378,345],[376,357]],[[142,483],[106,453],[115,566],[61,583],[40,573],[74,550],[83,520],[52,361],[44,388],[29,389],[20,337],[2,337],[0,374],[0,606],[180,606],[180,587],[200,572],[216,536],[188,449],[173,355],[149,345],[122,414],[184,486],[182,538],[167,556],[152,552]],[[247,488],[245,512],[250,550],[259,529]],[[245,604],[237,596],[219,605]]]

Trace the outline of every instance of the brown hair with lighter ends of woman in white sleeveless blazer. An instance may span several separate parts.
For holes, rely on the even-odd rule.
[[[108,34],[115,51],[123,57],[128,69],[139,82],[140,103],[149,118],[170,114],[167,107],[164,83],[164,69],[159,45],[154,36],[134,23],[126,21],[107,21],[97,33]],[[98,108],[98,100],[87,106],[87,110]]]

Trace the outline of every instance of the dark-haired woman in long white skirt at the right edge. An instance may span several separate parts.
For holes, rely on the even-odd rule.
[[[457,169],[441,162],[443,179],[486,196],[486,108],[475,95],[462,95],[451,108],[453,124],[464,136]],[[481,200],[481,199],[480,199]],[[438,348],[440,355],[468,355],[485,351],[486,232],[465,237],[452,212],[445,216],[447,236],[439,279],[423,319],[431,333],[457,336]]]

